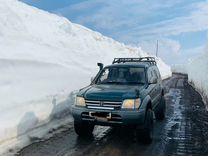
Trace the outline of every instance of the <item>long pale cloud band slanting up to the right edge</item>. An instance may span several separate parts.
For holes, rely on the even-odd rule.
[[[184,32],[208,30],[208,20],[205,20],[208,19],[208,3],[203,2],[195,5],[194,11],[187,16],[137,26],[134,29],[121,32],[120,37],[122,38],[122,36],[128,34],[132,37],[132,40],[138,36],[144,40],[161,36],[180,35]]]

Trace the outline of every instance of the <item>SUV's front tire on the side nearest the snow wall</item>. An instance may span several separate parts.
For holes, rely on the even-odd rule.
[[[76,122],[74,121],[74,130],[77,135],[82,137],[90,137],[92,136],[92,132],[94,130],[94,125],[84,122]]]

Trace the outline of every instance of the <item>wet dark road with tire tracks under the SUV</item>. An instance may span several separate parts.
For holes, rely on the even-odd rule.
[[[50,139],[34,143],[19,156],[156,156],[208,155],[208,112],[186,75],[164,81],[166,119],[155,121],[154,140],[145,145],[131,129],[96,127],[93,138],[79,138],[73,126]]]

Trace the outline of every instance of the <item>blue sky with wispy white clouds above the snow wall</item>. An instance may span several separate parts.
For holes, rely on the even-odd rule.
[[[187,63],[208,41],[208,0],[21,0],[168,64]]]

